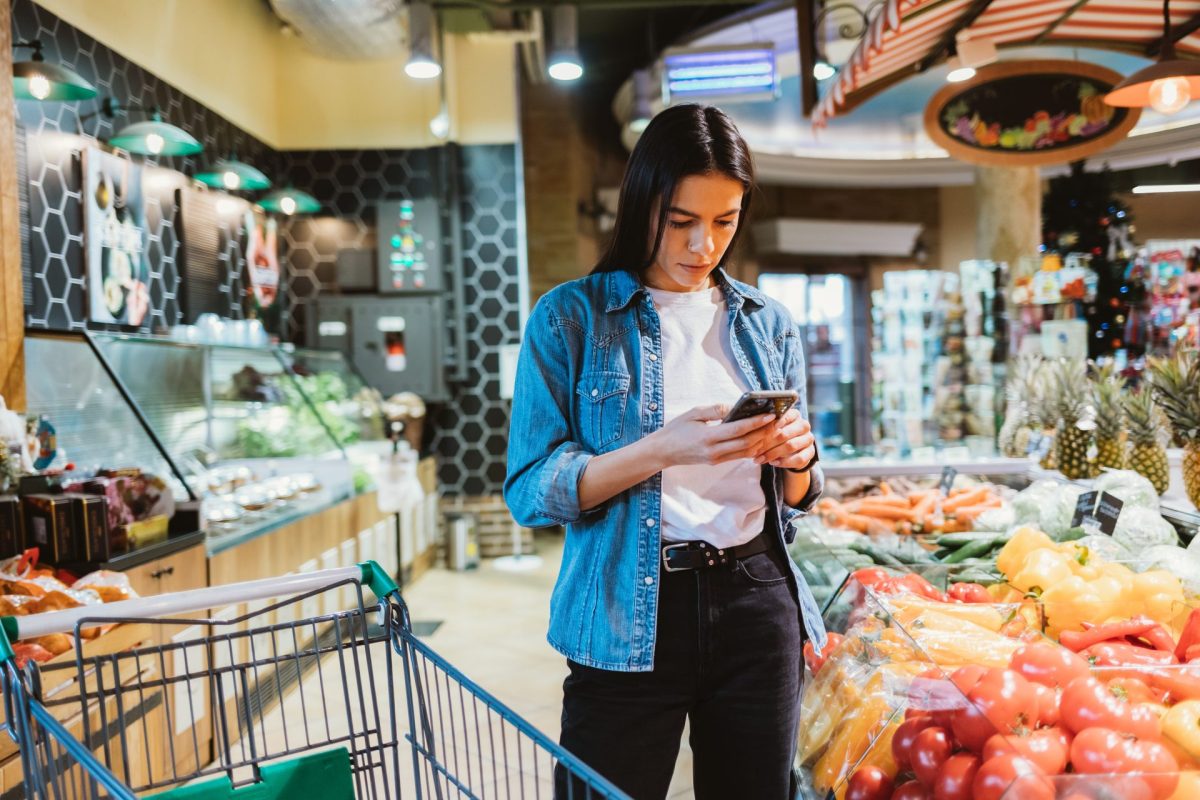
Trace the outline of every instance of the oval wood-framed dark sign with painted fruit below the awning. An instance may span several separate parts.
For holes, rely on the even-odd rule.
[[[1112,70],[1082,61],[1002,61],[948,84],[925,107],[925,131],[950,156],[994,167],[1067,163],[1126,138],[1141,116],[1104,95]]]

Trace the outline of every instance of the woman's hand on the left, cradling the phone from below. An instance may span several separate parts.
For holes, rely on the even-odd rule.
[[[738,458],[754,458],[763,452],[774,414],[761,414],[737,422],[720,421],[728,414],[726,405],[694,408],[650,434],[662,467],[683,464],[722,464]]]

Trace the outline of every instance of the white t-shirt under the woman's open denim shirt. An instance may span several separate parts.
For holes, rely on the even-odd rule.
[[[697,405],[732,407],[750,391],[730,343],[721,289],[649,289],[662,329],[664,421]],[[750,458],[662,470],[662,539],[737,547],[762,533],[767,498],[762,468]]]

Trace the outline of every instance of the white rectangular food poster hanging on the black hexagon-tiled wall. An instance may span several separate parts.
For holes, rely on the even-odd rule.
[[[150,311],[142,167],[96,148],[80,157],[88,317],[140,326]]]

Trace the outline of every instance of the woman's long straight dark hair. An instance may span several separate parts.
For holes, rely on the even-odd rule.
[[[754,188],[750,148],[733,120],[712,106],[674,106],[655,116],[629,157],[617,203],[617,223],[604,255],[592,271],[641,272],[653,264],[662,245],[662,231],[676,187],[685,178],[714,173],[739,181],[744,188],[738,229],[721,257],[720,266],[725,266],[750,215]],[[655,205],[654,245],[647,253],[646,242],[652,240],[650,217]]]

